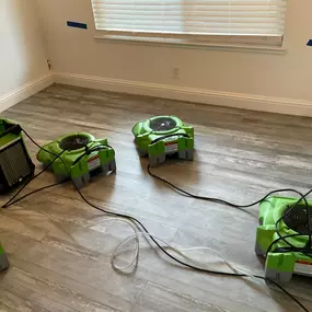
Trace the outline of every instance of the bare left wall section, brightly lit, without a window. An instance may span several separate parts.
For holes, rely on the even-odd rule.
[[[48,73],[35,0],[0,1],[0,97]]]

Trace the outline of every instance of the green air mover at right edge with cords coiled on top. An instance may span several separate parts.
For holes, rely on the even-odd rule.
[[[265,276],[281,282],[289,281],[293,274],[312,276],[312,258],[296,250],[307,247],[309,242],[307,207],[300,204],[292,208],[297,200],[274,196],[264,200],[259,209],[255,252],[266,256]],[[308,201],[308,205],[312,216],[312,203]],[[278,240],[275,224],[281,217],[282,220],[278,223],[279,233],[296,249]],[[312,219],[309,221],[312,228]],[[300,235],[286,238],[292,234]],[[278,241],[274,244],[275,240]]]

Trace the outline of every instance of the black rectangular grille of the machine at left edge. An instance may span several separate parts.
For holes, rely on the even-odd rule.
[[[31,162],[22,138],[18,138],[9,146],[0,150],[0,184],[1,188],[13,186],[22,182],[24,177],[32,174],[33,163]]]

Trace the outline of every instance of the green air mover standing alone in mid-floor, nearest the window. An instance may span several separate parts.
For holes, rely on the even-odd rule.
[[[139,122],[132,128],[140,157],[149,157],[150,165],[165,161],[167,154],[193,160],[194,127],[175,116],[157,116]]]

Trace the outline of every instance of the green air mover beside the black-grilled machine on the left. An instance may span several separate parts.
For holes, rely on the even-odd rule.
[[[60,159],[56,155],[60,154]],[[90,181],[92,174],[116,170],[115,151],[106,139],[95,140],[90,134],[78,132],[65,135],[43,147],[37,159],[44,165],[49,165],[59,181],[70,177],[77,187],[82,187]],[[65,165],[66,164],[66,167]]]

